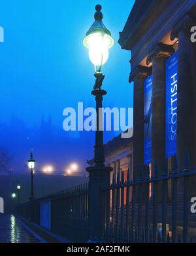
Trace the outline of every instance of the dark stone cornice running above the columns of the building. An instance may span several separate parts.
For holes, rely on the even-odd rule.
[[[125,41],[123,41],[122,48],[131,50],[131,69],[139,64],[145,66],[142,61],[150,53],[152,45],[159,42],[164,43],[162,40],[167,34],[170,40],[172,26],[178,20],[181,20],[185,14],[196,13],[196,0],[163,0],[156,2],[158,5],[152,7],[153,10],[146,15],[140,25],[137,25],[137,30],[134,28],[134,33],[132,33],[134,22],[129,24],[129,30],[127,26],[127,35],[124,35]],[[173,45],[174,43],[175,40],[167,44]]]

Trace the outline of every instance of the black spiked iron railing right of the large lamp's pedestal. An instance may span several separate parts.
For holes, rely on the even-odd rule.
[[[195,175],[195,170],[177,171],[175,166],[161,175],[155,168],[152,177],[147,167],[146,177],[139,179],[130,179],[128,171],[126,181],[123,172],[117,179],[113,175],[112,184],[103,191],[105,242],[193,242],[196,216],[190,212],[188,184]]]

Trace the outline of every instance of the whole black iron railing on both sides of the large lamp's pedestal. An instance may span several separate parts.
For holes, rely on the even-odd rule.
[[[160,174],[155,167],[151,174],[147,166],[145,175],[140,171],[136,176],[133,171],[133,177],[130,177],[129,171],[127,175],[119,171],[117,177],[113,175],[110,186],[96,184],[96,191],[103,199],[99,211],[103,216],[99,224],[103,232],[102,242],[196,241],[196,213],[191,213],[190,202],[196,194],[190,194],[189,189],[189,181],[196,179],[196,171],[195,168],[188,169],[188,157],[186,167],[181,171],[177,171],[176,158],[173,163],[169,173],[165,168]],[[96,181],[100,182],[98,178]],[[95,209],[91,207],[91,200],[95,198],[93,191],[88,184],[63,190],[19,205],[18,215],[45,225],[71,242],[95,240],[90,233],[97,224],[93,221]],[[43,221],[48,215],[50,218]]]

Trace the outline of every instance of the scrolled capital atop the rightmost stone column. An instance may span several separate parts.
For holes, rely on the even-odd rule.
[[[178,37],[178,33],[180,33],[182,30],[188,28],[189,26],[195,26],[196,24],[196,16],[193,14],[186,14],[184,17],[182,17],[174,26],[172,27],[171,32],[171,40],[174,40]]]

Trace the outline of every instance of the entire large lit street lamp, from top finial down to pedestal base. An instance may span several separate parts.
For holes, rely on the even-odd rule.
[[[89,58],[95,66],[95,85],[92,95],[95,95],[96,112],[97,112],[97,129],[95,131],[95,166],[87,167],[90,176],[89,182],[89,221],[90,221],[90,239],[89,242],[103,240],[103,223],[104,223],[104,205],[103,189],[110,185],[111,167],[105,166],[105,152],[103,144],[103,123],[99,111],[102,108],[103,95],[106,91],[101,89],[105,75],[101,72],[101,67],[108,59],[108,50],[114,45],[114,39],[110,31],[102,22],[103,14],[101,5],[95,7],[95,22],[84,38],[84,46],[89,50]],[[99,123],[100,122],[100,123]],[[100,125],[101,124],[101,125]],[[109,195],[106,197],[108,198]]]

